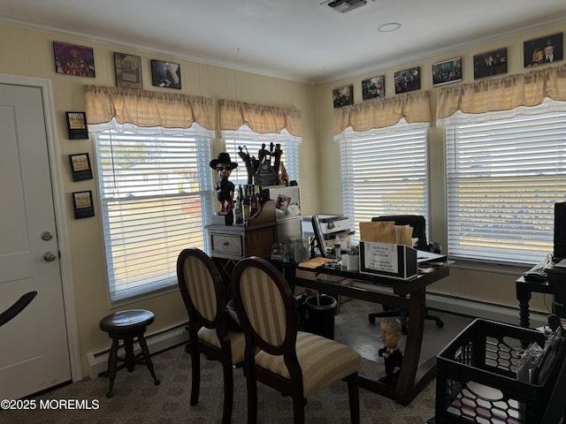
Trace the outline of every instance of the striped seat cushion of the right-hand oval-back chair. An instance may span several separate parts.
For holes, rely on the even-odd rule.
[[[358,352],[334,340],[303,331],[297,333],[296,352],[302,368],[305,398],[360,369]],[[283,356],[257,352],[256,365],[289,378]]]

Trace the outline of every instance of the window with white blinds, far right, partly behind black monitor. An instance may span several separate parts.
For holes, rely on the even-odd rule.
[[[447,125],[451,257],[535,264],[552,254],[554,204],[566,198],[566,105],[529,109]]]

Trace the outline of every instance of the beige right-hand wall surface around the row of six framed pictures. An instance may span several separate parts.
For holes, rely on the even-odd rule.
[[[432,57],[424,57],[421,60],[414,60],[394,67],[379,69],[376,71],[357,75],[356,77],[340,79],[329,82],[317,87],[317,110],[318,110],[318,142],[319,149],[325,151],[326,157],[330,160],[322,162],[322,166],[318,169],[318,178],[322,180],[325,177],[325,185],[321,185],[320,196],[318,199],[320,210],[327,213],[341,212],[340,197],[340,173],[334,171],[339,161],[339,145],[333,141],[333,97],[332,90],[336,87],[345,85],[354,85],[354,101],[362,102],[362,80],[371,77],[385,75],[386,80],[386,97],[394,96],[394,72],[402,71],[413,66],[420,66],[421,71],[421,89],[431,92],[431,108],[432,117],[436,113],[436,96],[438,87],[432,87],[432,64],[449,60],[455,57],[463,57],[463,82],[470,83],[474,80],[473,74],[473,56],[494,49],[507,48],[508,54],[508,74],[527,72],[531,69],[524,68],[523,48],[524,41],[543,37],[549,34],[555,34],[566,31],[566,22],[553,27],[539,28],[536,31],[517,32],[507,37],[472,45],[465,49],[455,49],[443,52]],[[379,49],[379,45],[375,46]],[[439,241],[442,246],[447,246],[446,233],[446,209],[445,209],[445,173],[444,173],[444,131],[442,128],[436,128],[435,122],[432,122],[432,128],[429,132],[430,147],[430,222],[429,230],[431,239]],[[540,258],[542,261],[544,258]],[[526,267],[529,268],[529,267]],[[478,268],[466,264],[455,263],[450,271],[450,276],[441,280],[439,283],[432,284],[431,292],[446,293],[457,298],[478,299],[487,302],[493,302],[497,305],[507,305],[517,307],[515,280],[525,269],[520,267],[486,267]],[[546,303],[545,303],[546,302]],[[533,309],[547,311],[552,305],[552,297],[534,294],[531,302]],[[518,323],[518,315],[517,315]]]

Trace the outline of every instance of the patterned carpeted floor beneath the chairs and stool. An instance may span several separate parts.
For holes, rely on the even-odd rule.
[[[367,305],[367,304],[366,304]],[[350,319],[363,319],[366,305],[356,300],[341,306],[336,317],[337,339]],[[375,307],[375,306],[374,306]],[[349,312],[348,312],[349,310]],[[367,318],[365,318],[367,320]],[[42,396],[32,398],[33,411],[0,411],[3,423],[219,423],[222,418],[222,370],[217,362],[202,360],[203,374],[199,404],[190,406],[190,356],[183,345],[152,357],[161,384],[155,386],[145,367],[133,373],[119,371],[114,384],[114,397],[106,398],[108,380],[98,378],[74,382]],[[363,374],[383,372],[383,364],[363,358]],[[234,370],[233,423],[246,422],[246,388],[241,369]],[[258,385],[258,422],[288,424],[293,422],[290,398]],[[430,383],[408,406],[397,405],[367,390],[360,390],[362,423],[422,424],[434,416],[434,382]],[[65,401],[78,401],[74,404]],[[47,402],[49,401],[49,402]],[[47,404],[54,409],[46,409]],[[40,405],[42,409],[40,409]],[[348,423],[348,393],[345,382],[337,382],[308,399],[305,409],[308,423]]]

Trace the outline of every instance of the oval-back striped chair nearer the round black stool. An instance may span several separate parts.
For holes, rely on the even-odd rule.
[[[201,382],[200,353],[218,360],[224,374],[222,423],[232,420],[233,367],[244,360],[245,337],[230,329],[226,287],[210,256],[196,248],[184,249],[177,260],[180,293],[188,313],[188,347],[192,362],[190,405],[196,405]]]

